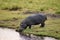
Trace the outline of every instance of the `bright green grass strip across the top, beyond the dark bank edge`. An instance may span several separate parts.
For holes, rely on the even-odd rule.
[[[60,11],[60,0],[0,0],[0,9],[14,7],[30,11],[41,11],[43,9],[45,12],[55,13]]]

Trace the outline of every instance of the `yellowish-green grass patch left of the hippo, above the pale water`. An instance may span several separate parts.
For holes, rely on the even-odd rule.
[[[20,22],[28,15],[21,14],[20,11],[0,10],[0,26],[16,28]]]

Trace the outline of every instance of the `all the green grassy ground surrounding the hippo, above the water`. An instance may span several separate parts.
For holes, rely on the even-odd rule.
[[[38,11],[60,14],[60,0],[0,0],[0,27],[18,29],[23,19],[31,14],[26,11]],[[50,18],[44,28],[40,25],[26,29],[24,33],[52,36],[60,39],[60,18]]]

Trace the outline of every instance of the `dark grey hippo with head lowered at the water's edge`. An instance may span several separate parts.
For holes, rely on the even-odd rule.
[[[29,27],[29,29],[31,29],[32,25],[38,25],[38,24],[40,24],[40,27],[43,28],[45,26],[46,20],[47,20],[47,16],[43,15],[43,14],[34,14],[31,16],[28,16],[21,22],[20,28],[18,31],[22,32],[27,27]]]

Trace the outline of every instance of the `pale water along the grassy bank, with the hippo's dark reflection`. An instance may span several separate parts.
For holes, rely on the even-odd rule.
[[[35,35],[22,35],[14,29],[0,28],[0,40],[57,40],[52,37],[38,37]]]

